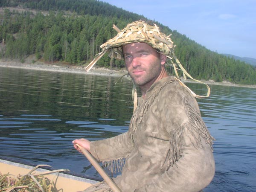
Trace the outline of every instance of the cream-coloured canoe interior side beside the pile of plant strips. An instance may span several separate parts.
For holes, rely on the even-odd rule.
[[[25,165],[22,163],[16,163],[10,160],[0,159],[0,173],[1,175],[10,174],[10,175],[26,175],[34,169],[34,166]],[[38,168],[35,170],[35,173],[40,174],[41,172],[49,172],[49,169]],[[33,172],[34,173],[34,172]],[[86,189],[92,184],[98,183],[100,180],[90,178],[89,176],[77,176],[70,175],[63,172],[55,172],[49,175],[44,175],[49,180],[54,181],[55,187],[58,191],[61,192],[77,192]]]

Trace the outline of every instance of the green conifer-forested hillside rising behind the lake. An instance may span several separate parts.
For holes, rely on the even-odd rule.
[[[20,61],[35,55],[35,60],[88,64],[100,52],[99,46],[116,35],[113,24],[122,29],[135,20],[148,21],[143,15],[97,0],[1,0],[0,7],[0,58]],[[175,54],[194,78],[256,84],[256,67],[212,52],[154,23],[172,34]],[[105,55],[97,66],[109,63]],[[115,61],[113,67],[124,67],[124,62]]]

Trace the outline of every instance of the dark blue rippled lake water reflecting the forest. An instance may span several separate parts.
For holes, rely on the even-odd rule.
[[[0,157],[101,179],[72,140],[128,130],[132,84],[111,76],[0,67]],[[201,84],[188,84],[205,94]],[[256,192],[256,89],[211,85],[198,99],[215,137],[215,177],[204,192]]]

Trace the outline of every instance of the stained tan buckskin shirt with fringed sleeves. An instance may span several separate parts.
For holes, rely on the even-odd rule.
[[[215,173],[212,140],[198,104],[173,77],[155,82],[138,98],[129,130],[90,144],[91,154],[121,169],[123,192],[198,192]],[[111,191],[103,182],[85,191]]]

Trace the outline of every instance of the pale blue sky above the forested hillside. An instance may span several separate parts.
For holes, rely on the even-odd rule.
[[[218,53],[256,58],[256,0],[102,0]]]

